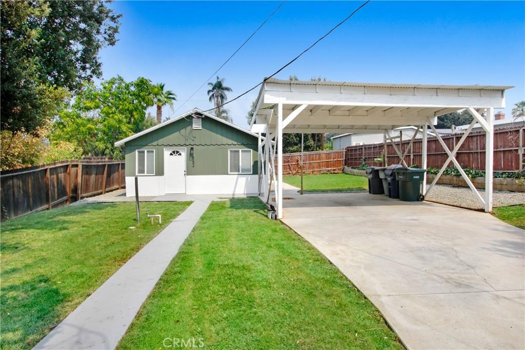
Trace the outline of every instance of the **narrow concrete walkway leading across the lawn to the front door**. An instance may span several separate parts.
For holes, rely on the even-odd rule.
[[[201,215],[216,196],[172,195],[194,202],[35,348],[114,349]],[[93,252],[96,254],[96,252]]]

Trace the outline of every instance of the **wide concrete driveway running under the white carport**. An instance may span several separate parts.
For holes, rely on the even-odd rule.
[[[408,348],[525,347],[525,231],[383,195],[287,191],[283,221],[383,313]]]

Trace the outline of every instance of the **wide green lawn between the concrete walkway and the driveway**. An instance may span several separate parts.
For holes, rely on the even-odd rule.
[[[265,214],[258,198],[212,203],[119,348],[159,349],[165,338],[234,349],[402,348],[337,268]]]

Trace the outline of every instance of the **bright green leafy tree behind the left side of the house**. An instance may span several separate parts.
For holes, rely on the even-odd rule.
[[[117,76],[100,87],[86,84],[71,108],[54,123],[51,140],[75,143],[87,155],[122,158],[114,143],[151,124],[146,109],[155,104],[156,91],[142,77],[126,82]]]

